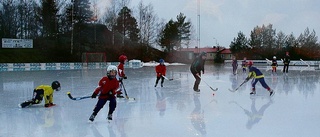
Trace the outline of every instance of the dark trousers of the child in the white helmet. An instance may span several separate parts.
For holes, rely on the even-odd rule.
[[[99,99],[95,108],[93,109],[93,115],[97,115],[98,112],[103,108],[103,106],[107,103],[107,101],[109,100],[109,112],[108,114],[112,114],[113,111],[116,109],[117,107],[117,101],[116,98],[110,98],[110,99]]]

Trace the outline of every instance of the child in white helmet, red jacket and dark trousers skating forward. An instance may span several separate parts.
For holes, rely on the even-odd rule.
[[[98,87],[94,90],[91,95],[91,98],[96,98],[99,95],[99,99],[93,113],[90,116],[89,120],[94,121],[94,118],[98,112],[103,108],[103,106],[109,101],[109,112],[108,120],[112,120],[112,113],[116,109],[116,91],[119,88],[119,81],[116,78],[117,67],[114,65],[109,65],[107,68],[107,76],[104,76],[100,79]]]

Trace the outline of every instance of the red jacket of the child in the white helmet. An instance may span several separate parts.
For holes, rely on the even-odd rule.
[[[108,77],[102,77],[94,93],[100,93],[99,99],[114,98],[118,88],[119,82],[116,78],[109,79]]]

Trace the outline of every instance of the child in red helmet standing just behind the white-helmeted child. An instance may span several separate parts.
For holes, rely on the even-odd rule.
[[[118,65],[118,75],[117,75],[117,78],[118,78],[118,81],[120,82],[120,87],[117,91],[117,97],[118,98],[124,98],[121,94],[122,94],[122,80],[123,79],[127,79],[127,76],[126,74],[124,73],[124,64],[125,62],[127,62],[128,58],[126,55],[120,55],[119,56],[119,65]]]

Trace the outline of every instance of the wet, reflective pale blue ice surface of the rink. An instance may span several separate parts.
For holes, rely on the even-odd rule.
[[[130,97],[120,99],[108,123],[108,105],[93,123],[89,116],[97,99],[68,98],[91,95],[105,69],[0,72],[0,137],[315,137],[320,135],[319,71],[290,70],[272,75],[261,68],[275,95],[257,84],[249,95],[250,82],[235,89],[247,76],[229,66],[206,65],[200,93],[192,90],[189,65],[167,66],[164,87],[154,87],[154,67],[127,68],[124,80]],[[19,108],[32,98],[33,89],[58,80],[57,105]],[[213,92],[206,83],[213,88]],[[215,93],[213,96],[212,94]]]

